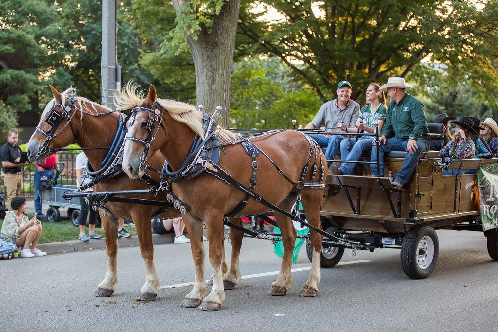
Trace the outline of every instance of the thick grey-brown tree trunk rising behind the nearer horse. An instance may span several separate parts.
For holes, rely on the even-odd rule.
[[[172,0],[178,14],[183,1]],[[213,28],[207,31],[201,23],[197,40],[187,35],[187,43],[194,60],[197,105],[212,114],[222,107],[220,125],[228,126],[230,110],[230,81],[234,62],[235,35],[239,17],[240,0],[225,2],[220,13],[213,19]]]

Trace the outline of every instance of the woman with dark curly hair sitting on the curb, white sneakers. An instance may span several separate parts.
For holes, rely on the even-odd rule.
[[[10,206],[14,211],[7,212],[1,227],[1,236],[5,241],[23,247],[21,257],[45,256],[47,253],[36,247],[43,229],[41,221],[35,217],[28,220],[26,199],[14,197]]]

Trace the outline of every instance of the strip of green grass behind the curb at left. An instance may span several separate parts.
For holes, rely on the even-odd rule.
[[[28,217],[33,217],[33,214],[28,214]],[[0,229],[2,224],[3,220],[0,220]],[[42,225],[43,232],[41,233],[39,243],[77,240],[80,234],[79,227],[73,225],[73,223],[68,219],[55,222],[43,221]],[[136,235],[136,230],[134,227],[126,227],[126,230],[132,235]],[[85,231],[88,235],[88,225],[86,226]],[[103,228],[97,226],[95,228],[95,232],[104,236]]]

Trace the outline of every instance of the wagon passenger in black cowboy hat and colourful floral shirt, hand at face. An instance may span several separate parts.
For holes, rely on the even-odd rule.
[[[474,122],[467,116],[460,116],[457,120],[450,120],[455,123],[455,138],[443,147],[438,154],[438,158],[452,156],[453,159],[473,158],[476,153],[476,144],[471,139],[471,134],[476,134],[473,128]],[[458,170],[444,170],[443,175],[456,175]],[[465,171],[460,171],[463,174]]]

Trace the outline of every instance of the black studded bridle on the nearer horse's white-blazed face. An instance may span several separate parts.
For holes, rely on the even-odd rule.
[[[139,139],[139,138],[129,137],[129,136],[126,136],[124,138],[125,142],[130,140],[130,141],[139,142],[139,143],[142,143],[145,145],[145,148],[143,149],[142,156],[140,157],[140,164],[138,165],[139,171],[143,170],[145,164],[147,163],[147,153],[149,152],[150,144],[154,140],[154,138],[157,134],[157,131],[159,130],[159,127],[162,127],[162,116],[164,114],[164,108],[161,107],[161,109],[162,109],[162,112],[161,112],[161,111],[159,111],[159,107],[160,107],[160,105],[157,102],[154,102],[153,109],[150,109],[148,107],[135,107],[135,108],[131,109],[131,112],[129,115],[128,128],[134,124],[134,122],[136,120],[136,114],[138,112],[147,111],[149,114],[149,117],[147,119],[147,124],[146,124],[146,128],[149,132],[149,134],[147,135],[147,138]],[[152,133],[157,121],[159,121],[157,128],[156,128],[155,132]],[[164,127],[163,127],[163,130],[164,130]]]

